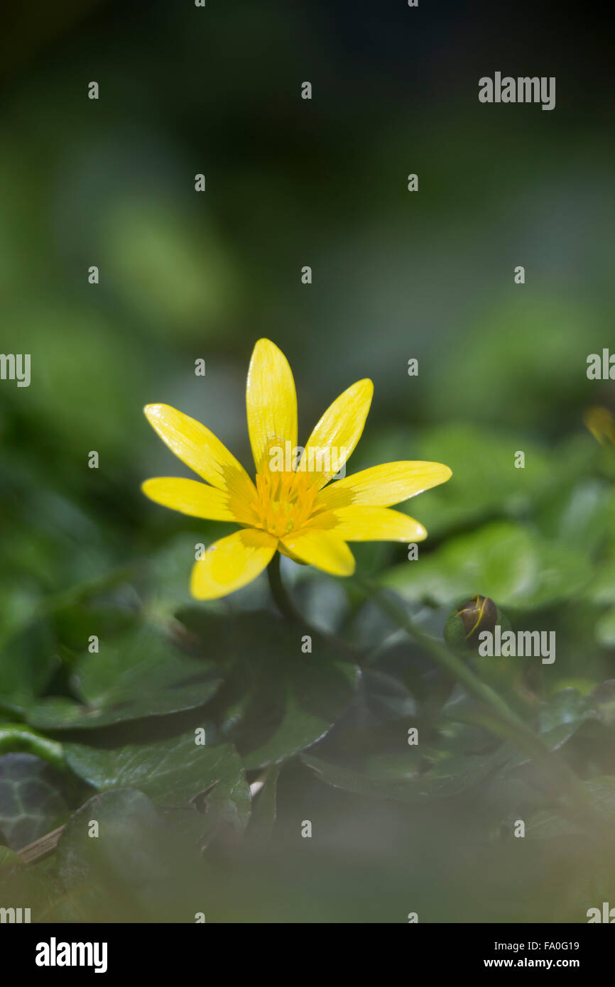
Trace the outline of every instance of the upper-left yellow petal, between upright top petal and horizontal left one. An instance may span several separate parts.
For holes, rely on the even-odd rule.
[[[212,487],[244,501],[249,509],[256,499],[256,488],[241,463],[213,432],[169,405],[147,405],[144,412],[163,442],[183,463]],[[238,507],[238,503],[233,507]]]

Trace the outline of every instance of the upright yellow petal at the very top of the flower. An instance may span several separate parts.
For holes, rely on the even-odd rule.
[[[270,340],[254,347],[246,386],[248,431],[257,470],[261,472],[269,446],[284,450],[297,444],[297,396],[288,360]]]

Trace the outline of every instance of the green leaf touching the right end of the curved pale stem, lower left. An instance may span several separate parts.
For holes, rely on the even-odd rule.
[[[99,792],[140,789],[159,805],[181,806],[214,786],[207,807],[235,829],[250,817],[250,788],[231,744],[202,746],[192,733],[115,750],[66,744],[66,763]]]

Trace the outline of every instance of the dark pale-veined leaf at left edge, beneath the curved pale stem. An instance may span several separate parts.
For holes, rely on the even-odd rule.
[[[55,773],[32,754],[0,757],[0,831],[19,850],[59,826],[68,815]]]

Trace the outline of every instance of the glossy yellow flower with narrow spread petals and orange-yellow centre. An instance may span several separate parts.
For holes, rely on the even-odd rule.
[[[444,483],[451,475],[447,466],[385,463],[329,483],[360,438],[372,394],[367,379],[348,387],[301,451],[292,371],[274,343],[259,340],[246,388],[256,486],[204,425],[169,405],[147,405],[150,424],[205,483],[162,477],[146,480],[143,493],[192,517],[242,526],[214,542],[195,563],[193,596],[211,600],[240,589],[269,565],[276,551],[334,575],[351,575],[354,559],[346,542],[418,542],[426,537],[418,521],[389,508]]]

